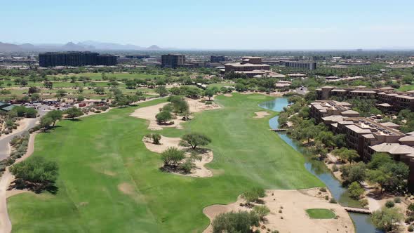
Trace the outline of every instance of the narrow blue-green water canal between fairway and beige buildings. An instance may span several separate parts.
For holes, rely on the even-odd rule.
[[[287,98],[276,98],[271,101],[262,102],[260,107],[264,109],[269,109],[272,111],[280,112],[283,110],[283,107],[288,106],[288,99]],[[276,129],[279,128],[278,123],[279,116],[275,116],[274,118],[269,120],[270,128]],[[347,193],[347,189],[342,187],[339,180],[337,180],[332,173],[326,168],[325,164],[322,161],[314,160],[310,157],[307,153],[307,150],[302,147],[298,142],[292,140],[291,138],[286,135],[286,133],[278,133],[279,136],[283,141],[291,145],[293,149],[297,150],[298,152],[302,153],[305,158],[307,159],[305,163],[305,168],[307,170],[316,175],[323,183],[325,183],[326,187],[330,190],[333,197],[342,205],[345,206],[355,206],[360,207],[359,202],[349,198]],[[375,229],[372,222],[370,221],[370,215],[363,215],[358,213],[349,213],[352,220],[354,221],[356,233],[380,233],[382,232],[379,229]]]

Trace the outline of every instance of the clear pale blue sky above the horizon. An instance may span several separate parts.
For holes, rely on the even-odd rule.
[[[413,0],[0,0],[0,41],[173,48],[414,48]]]

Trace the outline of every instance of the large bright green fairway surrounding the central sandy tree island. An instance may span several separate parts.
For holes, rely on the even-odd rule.
[[[32,157],[60,166],[58,194],[19,194],[8,199],[13,232],[202,232],[209,220],[202,210],[228,204],[251,187],[322,187],[305,158],[269,131],[262,110],[265,95],[216,100],[224,108],[197,113],[185,129],[160,131],[169,137],[188,131],[213,140],[211,178],[190,178],[159,171],[159,154],[142,142],[148,123],[128,116],[136,107],[60,121],[36,136]],[[145,102],[155,105],[164,99]]]

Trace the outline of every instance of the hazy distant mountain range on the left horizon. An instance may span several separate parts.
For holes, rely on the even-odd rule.
[[[160,48],[152,45],[147,48],[133,44],[115,44],[98,41],[83,41],[77,44],[8,44],[0,42],[0,52],[44,52],[44,51],[162,51],[168,48]]]

